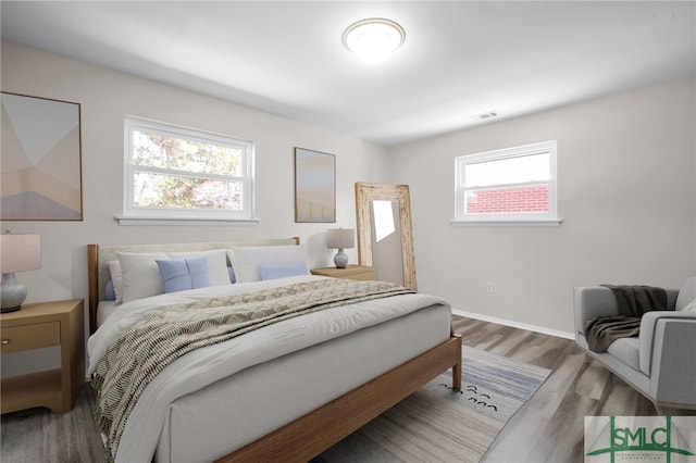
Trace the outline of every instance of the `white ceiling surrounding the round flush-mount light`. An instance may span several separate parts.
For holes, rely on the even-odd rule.
[[[2,37],[387,146],[696,76],[696,2],[14,2]],[[366,64],[345,27],[406,29]],[[11,91],[12,89],[4,89]]]

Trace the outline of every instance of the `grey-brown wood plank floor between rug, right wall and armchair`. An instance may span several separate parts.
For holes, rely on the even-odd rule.
[[[570,339],[455,315],[465,346],[551,370],[497,437],[483,463],[583,462],[585,416],[654,416],[652,403]],[[694,411],[667,411],[693,415]]]

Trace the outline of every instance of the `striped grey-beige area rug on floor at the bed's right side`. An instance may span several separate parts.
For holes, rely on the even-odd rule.
[[[463,347],[462,389],[451,371],[312,463],[478,462],[550,370]]]

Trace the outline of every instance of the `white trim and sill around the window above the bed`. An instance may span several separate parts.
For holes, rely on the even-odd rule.
[[[246,151],[243,177],[244,178],[244,210],[231,211],[184,211],[176,209],[135,209],[133,208],[133,179],[135,166],[132,160],[130,134],[134,128],[183,136],[194,139],[212,141],[220,145],[241,147]],[[214,134],[200,129],[177,126],[146,118],[126,116],[124,122],[124,191],[123,214],[116,215],[119,225],[229,225],[235,223],[258,223],[254,216],[254,146],[252,141],[232,138],[226,135]],[[201,175],[204,176],[204,175]],[[215,175],[210,175],[215,177]]]

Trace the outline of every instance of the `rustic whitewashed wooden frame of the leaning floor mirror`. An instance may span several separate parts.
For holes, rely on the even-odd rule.
[[[403,286],[417,290],[411,198],[408,185],[356,183],[359,263],[360,265],[372,265],[372,213],[370,204],[373,200],[398,201],[399,203]]]

